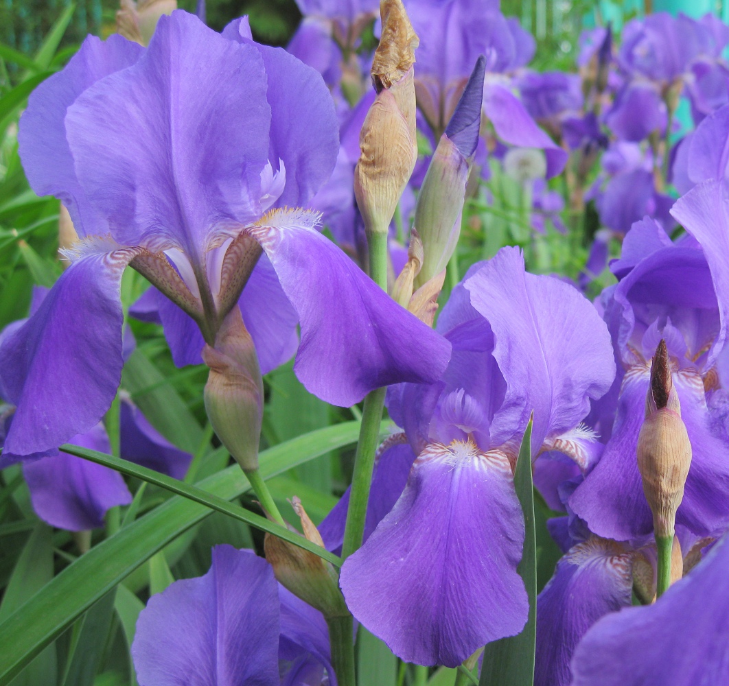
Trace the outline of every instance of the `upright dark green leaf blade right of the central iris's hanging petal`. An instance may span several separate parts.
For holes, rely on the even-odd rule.
[[[524,512],[526,537],[517,567],[529,596],[529,618],[521,634],[494,641],[483,651],[480,686],[534,686],[537,639],[537,540],[534,532],[534,485],[531,478],[531,421],[526,427],[516,462],[514,486]]]

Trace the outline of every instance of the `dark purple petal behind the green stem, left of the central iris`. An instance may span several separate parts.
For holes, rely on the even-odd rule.
[[[399,438],[395,434],[392,438]],[[392,441],[391,441],[392,442]],[[364,519],[363,542],[366,541],[384,516],[393,508],[397,499],[408,483],[410,467],[415,460],[413,449],[408,443],[383,443],[375,462],[375,475],[370,486],[370,498],[367,500],[367,515]],[[344,526],[349,507],[347,489],[332,511],[319,524],[319,533],[324,539],[328,551],[340,555],[344,541]]]

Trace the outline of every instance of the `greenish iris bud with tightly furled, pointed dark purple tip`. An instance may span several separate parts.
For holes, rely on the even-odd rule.
[[[478,143],[486,60],[478,58],[430,161],[418,194],[415,226],[424,248],[416,288],[445,269],[461,234],[461,213]]]

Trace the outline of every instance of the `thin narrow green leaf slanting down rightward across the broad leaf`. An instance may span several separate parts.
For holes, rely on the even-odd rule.
[[[222,512],[229,517],[244,521],[252,527],[261,529],[262,531],[278,536],[279,538],[283,538],[289,543],[298,545],[300,548],[304,548],[319,557],[323,557],[325,560],[330,561],[332,564],[336,564],[338,567],[342,564],[342,561],[338,558],[338,556],[324,550],[324,548],[321,548],[320,545],[311,543],[311,541],[289,531],[289,529],[282,527],[280,524],[276,524],[274,521],[269,521],[265,517],[257,515],[254,512],[245,510],[238,505],[233,505],[230,502],[227,502],[227,500],[207,493],[196,486],[185,484],[184,481],[179,481],[171,476],[155,472],[153,469],[147,469],[141,465],[136,465],[134,462],[128,462],[128,460],[122,460],[120,457],[107,455],[103,452],[96,452],[95,450],[70,445],[61,446],[61,448],[63,449],[63,452],[67,452],[70,455],[76,455],[76,457],[82,457],[84,460],[96,462],[97,465],[104,465],[104,467],[109,467],[128,476],[136,476],[136,478],[140,478],[142,481],[147,481],[148,484],[155,484],[155,486],[160,486],[160,488],[171,491],[172,493],[182,495],[182,497],[185,497],[188,500],[199,502],[200,505],[205,505],[206,508]],[[233,470],[235,470],[235,468],[233,468]],[[248,480],[245,476],[243,476],[243,480],[246,483],[243,490],[248,490]]]

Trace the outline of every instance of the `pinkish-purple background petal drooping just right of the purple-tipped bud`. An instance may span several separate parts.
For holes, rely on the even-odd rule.
[[[547,178],[556,176],[564,169],[566,151],[534,123],[529,112],[510,90],[500,84],[487,82],[483,88],[483,108],[502,141],[513,146],[541,148],[545,151]]]

